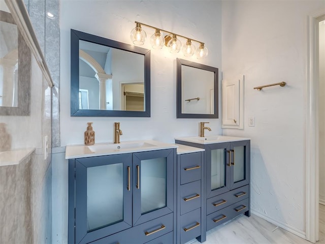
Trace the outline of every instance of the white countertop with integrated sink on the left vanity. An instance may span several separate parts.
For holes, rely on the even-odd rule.
[[[138,153],[160,149],[177,148],[177,145],[153,140],[122,141],[121,143],[95,143],[94,145],[67,145],[66,159]]]

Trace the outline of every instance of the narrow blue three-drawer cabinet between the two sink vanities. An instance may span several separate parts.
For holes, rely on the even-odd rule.
[[[201,242],[206,240],[203,157],[202,150],[177,153],[176,243],[183,244],[194,238]]]

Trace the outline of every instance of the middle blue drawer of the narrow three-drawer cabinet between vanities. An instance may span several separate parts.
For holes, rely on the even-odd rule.
[[[201,180],[180,186],[181,215],[201,207]]]

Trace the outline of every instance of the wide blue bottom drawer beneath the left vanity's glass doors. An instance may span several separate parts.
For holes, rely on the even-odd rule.
[[[91,244],[139,244],[153,240],[171,231],[173,231],[173,214],[165,215],[114,235],[93,241]]]

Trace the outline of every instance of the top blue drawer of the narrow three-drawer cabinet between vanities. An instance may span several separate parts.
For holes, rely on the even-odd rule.
[[[201,179],[201,153],[181,155],[181,185]]]

